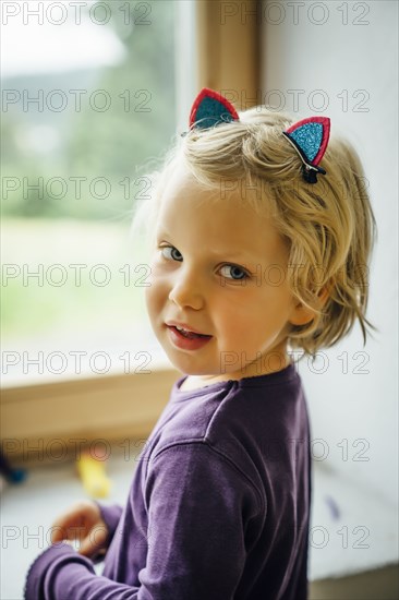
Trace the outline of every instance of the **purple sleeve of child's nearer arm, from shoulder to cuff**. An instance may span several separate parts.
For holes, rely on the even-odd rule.
[[[96,575],[89,560],[56,544],[31,567],[25,600],[232,599],[245,564],[245,521],[258,511],[245,475],[203,442],[177,444],[150,460],[145,500],[140,587]]]

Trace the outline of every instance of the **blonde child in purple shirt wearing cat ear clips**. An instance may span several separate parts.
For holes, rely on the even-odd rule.
[[[362,167],[326,118],[239,115],[204,88],[155,191],[135,216],[153,252],[146,304],[184,375],[124,508],[84,501],[56,520],[25,598],[304,600],[310,428],[288,348],[315,357],[355,319],[364,343],[374,328]]]

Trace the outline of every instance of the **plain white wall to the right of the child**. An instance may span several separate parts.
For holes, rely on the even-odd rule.
[[[313,373],[306,363],[299,363],[299,372],[309,398],[312,437],[325,441],[314,446],[314,453],[328,449],[326,466],[352,480],[367,481],[392,502],[398,489],[397,23],[398,3],[390,0],[264,2],[259,91],[263,103],[276,105],[282,98],[285,110],[298,120],[330,117],[331,135],[344,134],[363,159],[378,227],[367,315],[379,333],[363,347],[356,325],[338,346],[324,350],[325,370],[321,357],[314,364],[321,373]],[[279,94],[270,94],[273,89]],[[303,91],[298,107],[290,89]],[[348,107],[339,97],[342,91]],[[361,100],[365,101],[359,106]],[[325,110],[318,110],[324,103]],[[348,357],[348,373],[339,359],[342,353]],[[355,373],[356,367],[367,372]],[[343,439],[348,460],[337,446]],[[359,439],[365,442],[353,447]],[[359,458],[368,460],[353,460],[367,444]]]

